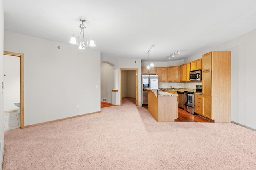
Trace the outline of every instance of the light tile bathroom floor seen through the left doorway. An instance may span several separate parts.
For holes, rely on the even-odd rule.
[[[4,113],[4,131],[20,127],[20,113],[18,111]]]

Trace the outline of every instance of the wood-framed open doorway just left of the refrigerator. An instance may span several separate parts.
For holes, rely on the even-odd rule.
[[[128,94],[124,94],[127,91]],[[138,106],[138,69],[120,68],[120,106],[123,96],[134,97]]]

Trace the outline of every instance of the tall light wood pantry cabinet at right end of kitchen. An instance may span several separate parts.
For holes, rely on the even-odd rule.
[[[230,122],[230,51],[212,51],[202,56],[202,116],[214,122]]]

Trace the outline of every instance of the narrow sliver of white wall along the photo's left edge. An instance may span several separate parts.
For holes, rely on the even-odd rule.
[[[3,81],[3,54],[4,54],[4,7],[3,0],[0,0],[0,83]],[[4,120],[3,120],[3,91],[0,92],[0,168],[4,156]]]

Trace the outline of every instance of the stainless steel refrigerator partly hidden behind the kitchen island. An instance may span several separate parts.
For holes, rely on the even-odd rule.
[[[151,89],[158,89],[158,74],[142,74],[141,75],[141,82],[142,82],[142,106],[148,106],[148,94],[144,87],[148,87]]]

